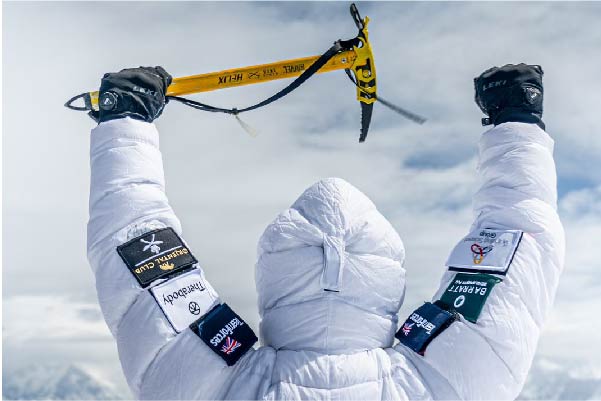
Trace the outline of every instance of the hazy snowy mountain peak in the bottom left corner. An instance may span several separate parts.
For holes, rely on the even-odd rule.
[[[122,400],[109,384],[74,365],[30,365],[2,373],[3,400]]]

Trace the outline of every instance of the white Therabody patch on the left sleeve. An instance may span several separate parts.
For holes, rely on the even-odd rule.
[[[200,269],[156,285],[150,292],[178,333],[187,329],[219,302],[217,292],[205,280]]]

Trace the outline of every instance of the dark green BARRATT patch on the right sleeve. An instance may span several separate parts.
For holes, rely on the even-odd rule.
[[[440,300],[476,323],[486,298],[502,280],[490,274],[457,273]]]

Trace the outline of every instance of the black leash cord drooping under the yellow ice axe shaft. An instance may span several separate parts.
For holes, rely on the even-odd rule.
[[[324,54],[319,56],[319,58],[317,60],[315,60],[315,62],[313,64],[311,64],[311,66],[309,66],[309,68],[307,68],[298,78],[296,78],[294,81],[292,81],[290,83],[290,85],[288,85],[287,87],[285,87],[284,89],[282,89],[281,91],[276,93],[275,95],[263,100],[262,102],[259,102],[255,105],[252,105],[249,107],[245,107],[243,109],[236,109],[236,108],[225,109],[225,108],[221,108],[221,107],[215,107],[215,106],[211,106],[208,104],[196,102],[194,100],[186,99],[186,98],[180,97],[180,96],[167,96],[167,99],[176,100],[180,103],[185,104],[186,106],[190,106],[190,107],[193,107],[198,110],[210,111],[213,113],[226,113],[226,114],[236,115],[236,114],[244,113],[246,111],[255,110],[255,109],[258,109],[259,107],[267,106],[268,104],[273,103],[278,99],[281,99],[282,97],[286,96],[287,94],[289,94],[290,92],[292,92],[293,90],[295,90],[296,88],[301,86],[307,79],[309,79],[311,76],[313,76],[317,71],[319,71],[319,69],[321,67],[323,67],[328,61],[330,61],[330,59],[332,57],[334,57],[336,54],[340,53],[340,51],[352,47],[353,44],[355,44],[355,39],[348,40],[348,41],[337,41],[336,43],[334,43],[334,46],[330,47],[328,49],[328,51],[326,51]]]

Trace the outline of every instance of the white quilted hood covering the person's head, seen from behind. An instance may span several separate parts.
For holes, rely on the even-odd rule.
[[[367,196],[339,178],[317,182],[259,240],[263,344],[329,354],[392,346],[404,257]]]

